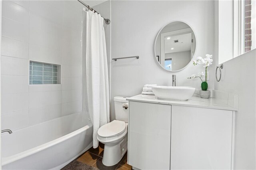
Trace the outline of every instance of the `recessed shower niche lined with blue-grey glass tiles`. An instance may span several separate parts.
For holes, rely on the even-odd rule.
[[[50,63],[40,63],[37,61],[30,61],[29,64],[29,84],[59,84],[58,83],[58,67]]]

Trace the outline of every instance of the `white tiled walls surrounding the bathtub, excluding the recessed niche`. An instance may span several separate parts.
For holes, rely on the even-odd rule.
[[[82,9],[77,1],[2,1],[2,129],[82,111]],[[29,60],[61,65],[61,84],[29,85]]]

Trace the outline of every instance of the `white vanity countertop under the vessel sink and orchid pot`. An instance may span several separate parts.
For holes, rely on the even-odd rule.
[[[237,108],[231,107],[224,101],[221,101],[215,98],[202,99],[196,96],[192,96],[187,101],[172,101],[172,100],[158,99],[155,95],[140,94],[133,97],[129,97],[126,100],[144,102],[144,103],[156,103],[156,104],[162,104],[162,105],[176,105],[176,106],[188,106],[188,107],[200,107],[200,108],[208,108],[208,109],[237,111]]]

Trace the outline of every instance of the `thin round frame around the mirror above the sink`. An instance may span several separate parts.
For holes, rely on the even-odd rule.
[[[156,40],[157,40],[157,38],[158,38],[160,32],[164,29],[164,27],[166,27],[168,24],[171,24],[172,22],[183,22],[183,23],[187,24],[187,25],[191,28],[191,30],[193,31],[194,36],[195,36],[195,39],[196,39],[196,49],[195,49],[195,52],[194,52],[194,55],[193,55],[192,59],[190,60],[190,62],[189,62],[185,67],[183,67],[183,68],[181,68],[181,69],[179,69],[179,70],[175,70],[175,71],[166,70],[166,69],[157,61],[157,59],[156,59]],[[193,28],[190,26],[190,24],[188,24],[187,22],[184,22],[184,21],[182,21],[182,20],[173,20],[173,21],[167,23],[166,25],[164,25],[164,26],[161,28],[161,30],[160,30],[160,31],[158,32],[158,34],[156,35],[156,40],[155,40],[155,43],[154,43],[154,58],[155,58],[157,64],[158,64],[161,68],[163,68],[165,71],[169,71],[169,72],[178,72],[178,71],[181,71],[181,70],[185,69],[186,67],[188,67],[188,65],[189,65],[190,63],[193,62],[194,57],[195,57],[195,54],[196,54],[196,50],[197,50],[197,37],[196,37],[196,34],[195,34],[194,29],[193,29]]]

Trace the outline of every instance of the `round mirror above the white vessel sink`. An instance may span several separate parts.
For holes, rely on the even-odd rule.
[[[164,26],[155,41],[155,57],[168,71],[180,71],[192,60],[196,50],[196,37],[192,28],[181,21]]]

